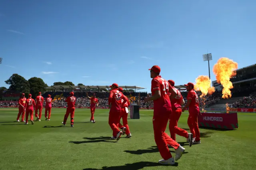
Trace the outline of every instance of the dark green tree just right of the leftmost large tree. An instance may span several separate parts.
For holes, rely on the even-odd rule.
[[[28,83],[30,84],[30,94],[32,95],[32,98],[36,97],[39,92],[44,93],[45,87],[48,87],[43,79],[38,77],[30,78]]]

